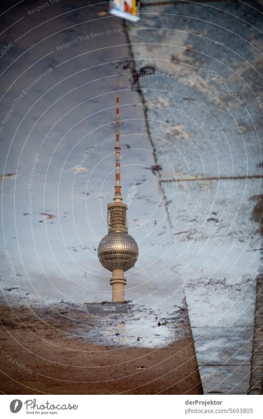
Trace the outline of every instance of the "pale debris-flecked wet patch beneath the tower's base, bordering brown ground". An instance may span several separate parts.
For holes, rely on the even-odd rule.
[[[114,346],[161,347],[190,335],[184,309],[167,316],[145,306],[88,305],[94,313],[92,327],[79,327],[75,333],[89,343]]]

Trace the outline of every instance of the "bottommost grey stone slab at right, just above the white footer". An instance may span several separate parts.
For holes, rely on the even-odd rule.
[[[199,367],[204,394],[246,394],[250,365]]]

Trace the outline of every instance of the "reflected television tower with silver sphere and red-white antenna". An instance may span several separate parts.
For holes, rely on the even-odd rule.
[[[118,80],[116,83],[118,87]],[[116,124],[119,125],[119,96],[116,93]],[[138,246],[128,234],[126,212],[128,206],[123,204],[120,186],[120,147],[119,132],[116,129],[115,145],[115,195],[114,202],[108,204],[108,234],[103,237],[98,247],[98,258],[103,267],[113,272],[110,283],[113,286],[113,301],[124,302],[124,271],[134,267],[138,259]]]

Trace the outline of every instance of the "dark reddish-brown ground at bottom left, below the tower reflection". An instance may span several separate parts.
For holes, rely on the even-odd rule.
[[[74,336],[94,315],[70,305],[0,306],[5,394],[202,394],[193,342],[166,347],[96,345]]]

